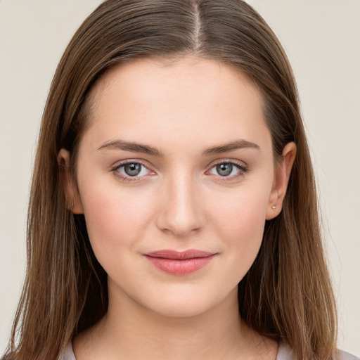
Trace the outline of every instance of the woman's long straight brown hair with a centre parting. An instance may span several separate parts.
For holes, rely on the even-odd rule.
[[[275,159],[286,143],[297,145],[283,211],[266,221],[257,259],[238,285],[240,315],[260,334],[289,342],[297,359],[334,356],[335,302],[314,174],[295,80],[278,39],[241,0],[108,0],[76,32],[51,84],[30,194],[27,275],[8,359],[56,359],[107,310],[105,271],[84,217],[66,206],[56,162],[60,148],[76,158],[91,87],[117,63],[184,54],[219,60],[252,79],[262,92]]]

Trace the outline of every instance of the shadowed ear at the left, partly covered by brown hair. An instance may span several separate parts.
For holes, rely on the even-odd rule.
[[[73,214],[82,214],[82,202],[77,191],[76,181],[72,176],[69,151],[62,148],[58,153],[57,160],[68,209]]]

